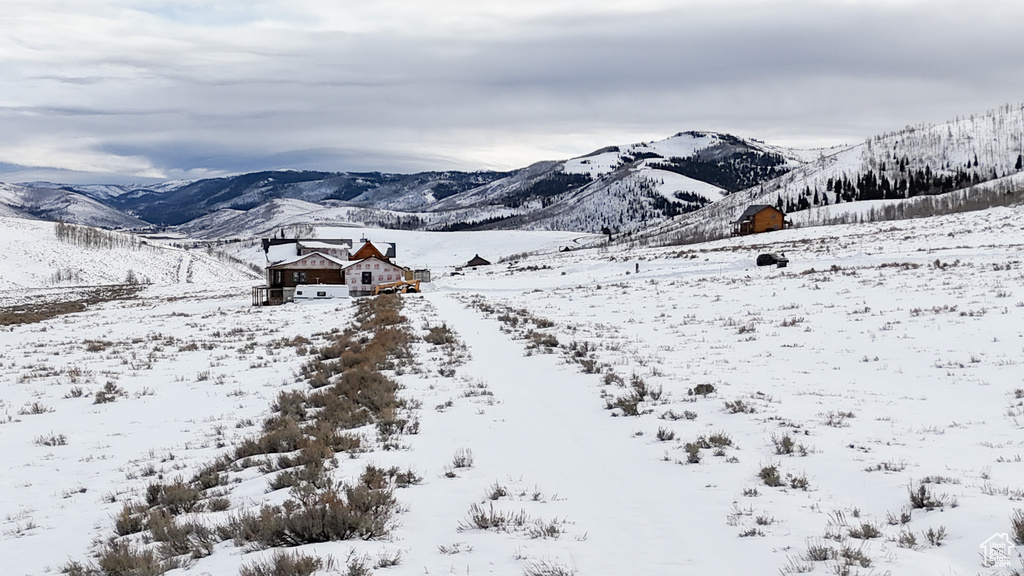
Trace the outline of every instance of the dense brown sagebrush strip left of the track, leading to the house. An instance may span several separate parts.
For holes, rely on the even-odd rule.
[[[376,425],[388,446],[390,436],[415,434],[418,426],[407,416],[411,408],[397,397],[398,385],[380,372],[398,370],[411,358],[412,335],[399,326],[406,321],[398,312],[400,301],[393,296],[360,301],[358,325],[337,333],[303,366],[302,375],[312,392],[280,394],[272,405],[274,414],[263,422],[259,436],[201,467],[191,480],[152,483],[144,501],[125,504],[117,515],[117,536],[96,551],[96,562],[70,562],[65,572],[159,576],[185,566],[189,559],[210,554],[217,542],[227,539],[240,545],[276,547],[386,536],[400,508],[393,490],[422,479],[412,470],[371,465],[354,483],[338,484],[329,472],[336,465],[336,452],[367,449],[361,436],[340,430]],[[119,396],[124,392],[109,382],[97,393],[96,403]],[[230,507],[224,491],[211,489],[228,486],[232,471],[257,464],[262,474],[282,470],[270,485],[291,487],[291,497],[280,505],[242,509],[226,522],[222,517],[213,521],[199,516]],[[183,520],[181,515],[189,517]],[[377,567],[396,563],[398,554],[391,557],[393,562],[381,560]],[[313,564],[299,556],[274,557],[244,567],[243,574],[292,576],[323,568]],[[369,568],[364,573],[369,574]]]

